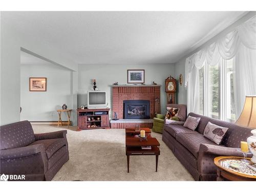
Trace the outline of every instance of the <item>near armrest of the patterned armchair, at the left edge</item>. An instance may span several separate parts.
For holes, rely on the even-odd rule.
[[[0,156],[1,159],[13,159],[13,158],[20,158],[20,157],[27,157],[35,154],[44,154],[45,146],[43,144],[36,144],[36,145],[29,145],[24,147],[18,148],[9,148],[7,150],[1,150]]]

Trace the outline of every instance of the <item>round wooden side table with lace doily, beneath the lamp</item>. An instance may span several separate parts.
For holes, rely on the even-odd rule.
[[[234,172],[233,170],[226,168],[221,165],[221,161],[225,160],[240,160],[242,157],[235,156],[220,156],[214,159],[214,164],[217,168],[217,181],[256,181],[256,176],[246,175],[238,172]],[[251,158],[247,158],[250,160]]]

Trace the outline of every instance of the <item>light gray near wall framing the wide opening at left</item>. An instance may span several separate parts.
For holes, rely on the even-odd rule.
[[[54,61],[56,64],[77,71],[77,63],[74,63],[58,49],[44,44],[40,39],[35,39],[30,34],[15,31],[9,26],[5,12],[1,12],[1,70],[0,70],[0,125],[20,120],[20,48],[33,51]],[[75,72],[74,72],[75,73]],[[76,76],[76,75],[75,75]],[[77,81],[73,81],[73,88],[77,87]],[[76,100],[76,92],[73,100]],[[76,108],[76,103],[73,106]],[[73,121],[76,121],[76,110],[73,111]]]

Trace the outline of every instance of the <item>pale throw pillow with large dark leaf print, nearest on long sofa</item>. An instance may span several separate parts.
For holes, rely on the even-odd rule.
[[[204,137],[220,144],[228,128],[208,122],[204,129]]]

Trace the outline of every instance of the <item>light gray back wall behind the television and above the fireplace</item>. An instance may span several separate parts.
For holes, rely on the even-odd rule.
[[[112,90],[114,82],[127,84],[128,69],[144,69],[145,84],[152,84],[155,81],[161,84],[161,113],[165,113],[166,94],[164,80],[169,76],[175,76],[174,64],[150,64],[150,65],[78,65],[78,107],[87,104],[87,91],[93,90],[92,79],[96,79],[97,87],[101,91],[106,91],[108,107],[112,108]]]

